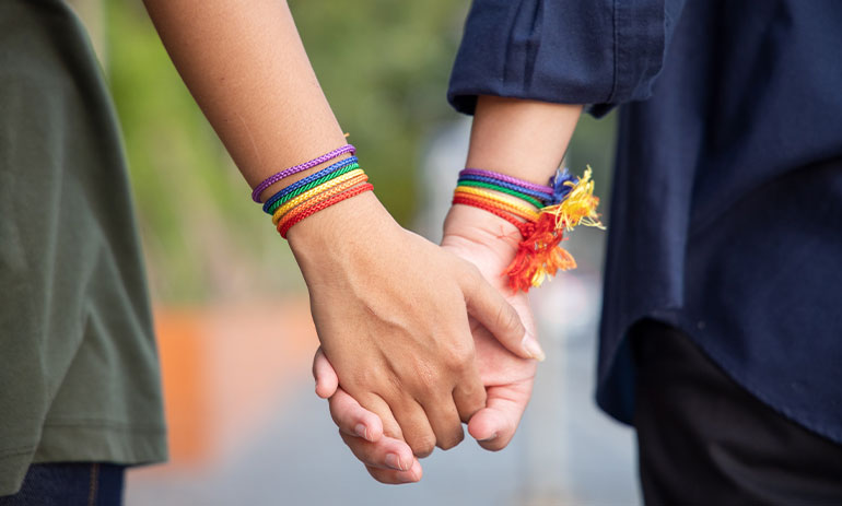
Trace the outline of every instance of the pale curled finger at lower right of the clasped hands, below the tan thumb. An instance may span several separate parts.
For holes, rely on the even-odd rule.
[[[482,448],[502,450],[514,437],[530,395],[530,383],[490,387],[488,407],[470,419],[468,433]]]

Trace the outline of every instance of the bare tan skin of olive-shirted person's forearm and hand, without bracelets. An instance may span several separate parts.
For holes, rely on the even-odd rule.
[[[346,143],[288,5],[145,0],[176,69],[252,187]],[[323,168],[316,166],[264,191]],[[290,246],[342,388],[418,456],[463,438],[486,405],[469,316],[512,353],[517,313],[471,263],[395,223],[366,192],[295,225]],[[399,280],[399,283],[397,282]]]

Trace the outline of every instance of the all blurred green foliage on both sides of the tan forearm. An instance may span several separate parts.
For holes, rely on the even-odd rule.
[[[301,287],[288,248],[248,199],[141,2],[104,5],[105,67],[155,298],[195,302]],[[377,196],[409,223],[422,138],[433,122],[455,116],[444,95],[467,2],[291,0],[290,7]],[[260,280],[256,286],[254,280]]]

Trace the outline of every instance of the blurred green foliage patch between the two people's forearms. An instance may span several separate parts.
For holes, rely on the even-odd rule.
[[[316,74],[378,198],[409,223],[414,166],[445,101],[467,2],[290,1]]]

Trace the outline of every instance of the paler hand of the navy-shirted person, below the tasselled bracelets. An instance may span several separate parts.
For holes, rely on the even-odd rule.
[[[530,339],[535,325],[528,297],[512,294],[500,273],[514,256],[514,243],[501,236],[517,237],[507,222],[473,208],[454,207],[445,224],[442,243],[448,249],[473,262],[482,274],[518,311]],[[513,355],[478,321],[471,321],[480,375],[488,392],[488,405],[477,412],[468,431],[489,450],[504,448],[511,442],[531,395],[536,362]],[[529,341],[527,340],[527,343]],[[537,345],[537,342],[535,343]],[[531,346],[542,356],[539,348]],[[383,483],[408,483],[421,479],[422,469],[407,445],[384,436],[381,421],[363,409],[341,388],[330,363],[319,352],[314,360],[316,393],[329,398],[330,413],[340,435],[369,472]]]

